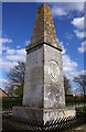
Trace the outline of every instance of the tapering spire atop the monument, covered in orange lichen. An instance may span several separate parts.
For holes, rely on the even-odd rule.
[[[57,44],[52,12],[50,7],[45,3],[37,9],[31,45],[28,46],[28,48],[41,43],[47,43],[61,50],[61,46]]]

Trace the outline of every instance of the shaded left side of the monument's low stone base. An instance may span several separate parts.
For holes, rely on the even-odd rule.
[[[13,117],[24,118],[30,120],[43,120],[43,109],[33,109],[30,107],[13,107]]]

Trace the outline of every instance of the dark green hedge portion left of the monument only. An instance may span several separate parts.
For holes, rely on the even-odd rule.
[[[3,97],[2,98],[2,109],[10,110],[13,106],[22,106],[22,98],[19,97]]]

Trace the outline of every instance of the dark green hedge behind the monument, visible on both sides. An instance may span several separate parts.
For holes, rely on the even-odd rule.
[[[66,106],[73,106],[78,103],[86,103],[86,97],[65,97]],[[1,103],[1,102],[0,102]],[[2,109],[11,110],[13,106],[22,106],[22,98],[20,97],[3,97]]]

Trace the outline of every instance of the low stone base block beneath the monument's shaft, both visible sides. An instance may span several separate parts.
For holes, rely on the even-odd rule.
[[[44,120],[44,123],[50,120],[56,120],[58,118],[68,118],[76,116],[76,111],[73,107],[63,109],[33,109],[29,107],[13,107],[12,116],[17,118],[25,118],[30,120]]]

